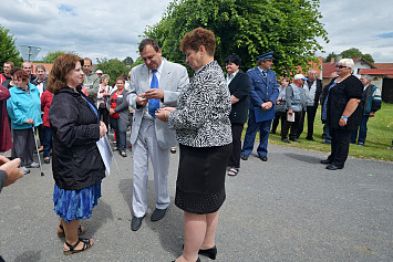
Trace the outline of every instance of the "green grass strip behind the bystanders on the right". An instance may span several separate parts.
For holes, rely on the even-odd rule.
[[[304,120],[304,129],[299,140],[301,143],[286,144],[281,142],[280,132],[281,123],[278,125],[276,134],[270,134],[269,143],[281,146],[291,146],[303,149],[312,149],[318,151],[330,153],[330,145],[322,144],[322,123],[321,123],[321,107],[318,107],[318,113],[314,122],[314,135],[316,142],[309,142],[306,139],[307,135],[307,119]],[[306,116],[307,118],[307,116]],[[247,124],[242,133],[242,137],[246,134]],[[256,140],[259,140],[257,135]],[[354,144],[350,146],[349,155],[358,158],[379,159],[393,161],[393,150],[387,148],[392,147],[393,140],[393,104],[382,103],[382,108],[375,113],[375,117],[370,117],[368,122],[368,137],[365,139],[365,146],[361,147]]]

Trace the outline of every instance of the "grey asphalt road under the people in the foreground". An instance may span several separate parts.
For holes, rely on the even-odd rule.
[[[35,156],[37,157],[37,156]],[[330,171],[327,154],[269,145],[269,160],[254,153],[237,177],[227,177],[227,200],[219,218],[218,262],[237,261],[393,261],[393,165],[349,158]],[[182,253],[183,213],[172,205],[151,222],[154,182],[142,228],[131,223],[132,156],[116,154],[121,171],[103,180],[90,220],[91,250],[64,255],[56,235],[51,166],[31,169],[0,193],[0,254],[6,261],[157,261]],[[175,196],[178,153],[172,156],[169,195]],[[200,256],[201,261],[209,261]]]

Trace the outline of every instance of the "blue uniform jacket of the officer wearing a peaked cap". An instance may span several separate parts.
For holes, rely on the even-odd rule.
[[[250,111],[254,111],[254,107],[260,107],[261,104],[268,101],[273,103],[273,106],[270,109],[275,111],[275,105],[278,98],[276,73],[268,70],[267,76],[263,77],[260,70],[255,67],[247,71],[247,74],[251,81]]]

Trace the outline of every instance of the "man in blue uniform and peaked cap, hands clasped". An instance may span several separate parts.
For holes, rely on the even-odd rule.
[[[251,154],[258,130],[260,139],[257,153],[262,161],[268,160],[269,130],[275,118],[275,104],[278,97],[276,73],[270,70],[273,65],[272,54],[271,51],[258,56],[258,66],[247,72],[251,81],[251,90],[248,127],[241,149],[242,160],[247,160]]]

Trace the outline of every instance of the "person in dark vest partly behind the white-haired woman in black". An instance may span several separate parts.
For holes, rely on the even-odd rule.
[[[363,101],[364,101],[364,111],[362,116],[362,122],[359,127],[359,137],[358,137],[358,128],[352,132],[351,143],[364,146],[365,137],[368,135],[368,120],[369,117],[374,117],[375,112],[381,109],[381,91],[371,84],[370,75],[362,75],[360,77],[360,82],[363,83]]]

